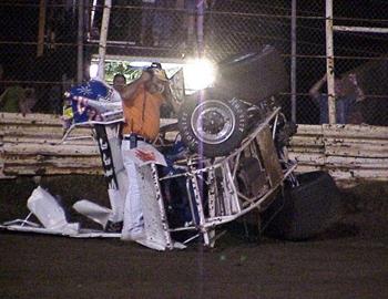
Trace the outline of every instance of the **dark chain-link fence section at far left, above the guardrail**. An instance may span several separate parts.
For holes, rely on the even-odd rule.
[[[14,99],[25,96],[27,111],[61,113],[63,91],[76,72],[76,18],[74,7],[54,2],[0,2],[3,111],[20,111]]]

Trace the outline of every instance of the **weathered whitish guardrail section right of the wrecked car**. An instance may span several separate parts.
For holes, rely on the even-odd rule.
[[[337,181],[388,181],[388,127],[299,125],[289,156],[298,172],[324,169]]]

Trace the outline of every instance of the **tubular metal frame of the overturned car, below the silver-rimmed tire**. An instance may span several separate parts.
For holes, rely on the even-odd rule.
[[[210,159],[201,155],[191,155],[183,162],[185,172],[178,175],[157,177],[157,172],[154,169],[155,185],[159,188],[163,181],[175,179],[178,176],[187,178],[186,194],[194,220],[181,227],[166,227],[166,235],[173,231],[196,230],[197,236],[202,236],[204,245],[213,247],[217,226],[233,221],[255,208],[258,212],[264,210],[270,204],[274,193],[287,177],[293,175],[296,167],[296,164],[279,159],[274,144],[278,113],[279,110],[275,110],[262,120],[244,140],[242,146],[226,157]],[[249,195],[245,189],[246,186],[237,182],[242,171],[241,161],[248,157],[257,161],[259,173],[264,176],[264,182],[262,179],[255,193]],[[204,188],[201,185],[206,186]]]

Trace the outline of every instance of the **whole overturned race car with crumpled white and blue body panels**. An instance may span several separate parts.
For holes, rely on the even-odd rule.
[[[156,250],[185,248],[200,239],[213,247],[226,224],[256,213],[259,230],[285,239],[308,239],[335,217],[339,193],[321,172],[295,175],[286,146],[296,125],[286,121],[277,94],[287,87],[279,53],[272,47],[235,55],[218,65],[212,87],[184,96],[177,122],[161,127],[150,146],[151,172],[142,192],[145,237],[137,243]],[[173,80],[171,80],[173,81]],[[174,87],[174,86],[172,86]],[[172,93],[174,94],[174,93]],[[67,94],[76,126],[93,126],[111,207],[81,200],[73,208],[99,223],[101,230],[65,220],[61,206],[38,187],[28,199],[40,224],[18,219],[11,230],[70,237],[121,237],[126,173],[120,155],[120,95],[101,81]],[[167,137],[173,135],[174,137]],[[161,154],[162,153],[162,154]]]

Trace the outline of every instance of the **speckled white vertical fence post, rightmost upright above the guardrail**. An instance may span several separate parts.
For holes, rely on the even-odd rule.
[[[329,124],[335,124],[336,93],[334,90],[333,0],[326,0],[326,73]]]

